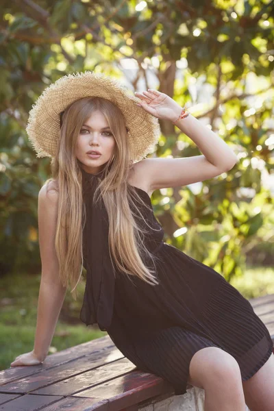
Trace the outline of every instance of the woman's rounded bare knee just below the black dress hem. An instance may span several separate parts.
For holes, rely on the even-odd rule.
[[[201,349],[190,361],[188,382],[201,388],[211,384],[227,387],[239,377],[236,359],[218,347]]]

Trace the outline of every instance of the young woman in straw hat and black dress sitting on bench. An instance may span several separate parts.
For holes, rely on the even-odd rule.
[[[203,155],[145,158],[158,141],[158,119],[177,125]],[[221,274],[163,242],[150,201],[153,190],[229,171],[232,149],[164,93],[134,97],[90,71],[51,84],[27,132],[38,157],[52,158],[53,178],[38,198],[34,349],[11,365],[45,360],[66,288],[74,292],[84,266],[80,318],[107,331],[139,369],[168,380],[175,395],[187,383],[203,388],[207,411],[244,411],[245,402],[251,411],[273,410],[268,330]]]

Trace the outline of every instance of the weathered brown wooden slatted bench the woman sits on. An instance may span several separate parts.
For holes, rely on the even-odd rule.
[[[274,295],[250,302],[274,340]],[[203,410],[203,390],[188,386],[174,396],[162,378],[138,371],[109,336],[51,354],[43,364],[0,372],[1,411],[167,409]]]

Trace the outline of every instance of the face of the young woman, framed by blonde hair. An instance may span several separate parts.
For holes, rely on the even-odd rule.
[[[92,112],[80,129],[77,138],[75,155],[82,163],[82,169],[88,173],[96,174],[103,169],[103,164],[112,159],[115,139],[110,131],[105,116],[98,110]],[[98,158],[92,158],[88,151],[99,151]]]

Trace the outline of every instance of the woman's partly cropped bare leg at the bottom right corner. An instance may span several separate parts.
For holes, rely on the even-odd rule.
[[[274,356],[253,377],[242,382],[245,401],[250,411],[274,410]]]

